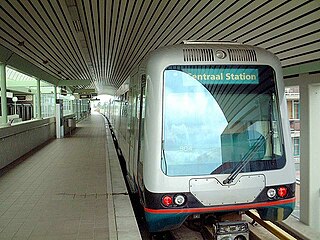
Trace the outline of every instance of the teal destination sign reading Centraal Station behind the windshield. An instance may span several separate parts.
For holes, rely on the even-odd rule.
[[[202,84],[258,84],[259,71],[254,68],[191,68],[181,70]]]

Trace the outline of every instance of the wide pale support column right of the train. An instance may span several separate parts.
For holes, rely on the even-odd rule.
[[[300,84],[299,88],[301,104],[300,221],[320,231],[320,85],[305,83]]]

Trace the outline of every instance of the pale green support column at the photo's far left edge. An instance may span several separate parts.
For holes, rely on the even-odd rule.
[[[1,123],[0,125],[8,124],[8,108],[7,108],[7,77],[6,65],[0,63],[0,86],[1,86]]]

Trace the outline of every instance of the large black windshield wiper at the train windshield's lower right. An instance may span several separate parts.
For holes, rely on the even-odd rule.
[[[231,174],[223,180],[223,184],[230,184],[233,182],[233,180],[238,176],[238,174],[242,171],[242,169],[247,165],[248,162],[252,159],[254,154],[257,152],[257,150],[263,146],[263,144],[266,142],[266,139],[269,137],[269,135],[266,136],[266,138],[261,135],[254,145],[248,150],[248,152],[242,157],[239,164],[231,171]]]

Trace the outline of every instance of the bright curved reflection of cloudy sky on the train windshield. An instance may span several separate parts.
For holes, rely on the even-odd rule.
[[[221,164],[220,135],[227,120],[200,82],[181,71],[166,71],[164,109],[164,172],[209,173]]]

